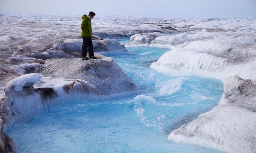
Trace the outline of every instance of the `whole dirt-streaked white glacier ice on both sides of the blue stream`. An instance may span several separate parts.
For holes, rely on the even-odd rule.
[[[0,16],[0,152],[17,152],[4,132],[47,104],[136,95],[133,80],[106,57],[128,54],[125,47],[130,46],[169,48],[150,66],[156,71],[216,78],[224,84],[218,106],[172,131],[168,140],[225,152],[255,152],[255,18],[97,17],[92,39],[100,60],[89,61],[79,58],[80,18]],[[124,47],[114,39],[119,37],[130,37],[131,42]]]

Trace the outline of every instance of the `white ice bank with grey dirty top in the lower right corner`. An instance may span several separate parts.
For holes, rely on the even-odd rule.
[[[225,80],[220,105],[172,131],[169,140],[226,152],[256,150],[256,80]]]

